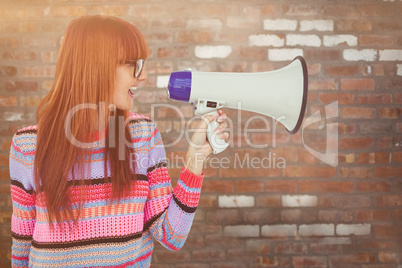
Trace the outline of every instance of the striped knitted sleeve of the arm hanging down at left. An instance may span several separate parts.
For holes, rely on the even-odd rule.
[[[35,193],[32,187],[32,156],[26,131],[17,132],[10,148],[12,267],[28,267],[29,250],[36,222]]]

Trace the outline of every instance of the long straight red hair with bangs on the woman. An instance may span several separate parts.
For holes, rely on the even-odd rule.
[[[129,163],[133,148],[119,140],[119,133],[124,131],[123,136],[130,141],[130,132],[128,126],[122,129],[109,118],[126,120],[129,116],[129,111],[113,106],[117,65],[126,59],[146,59],[147,56],[148,48],[142,34],[122,19],[83,16],[68,25],[58,54],[53,87],[37,109],[35,191],[42,196],[51,226],[66,220],[77,222],[85,198],[83,186],[88,181],[84,178],[88,176],[85,159],[91,159],[91,150],[72,143],[65,131],[71,111],[79,105],[100,108],[102,103],[106,107],[101,111],[106,126],[105,181],[112,184],[111,201],[129,193],[135,180],[135,171]],[[70,120],[71,135],[80,142],[94,141],[91,133],[98,130],[98,114],[98,109],[77,110]],[[119,157],[120,146],[124,146],[124,160]],[[109,159],[110,177],[106,159]],[[69,179],[69,176],[73,177]],[[70,187],[80,189],[78,207]]]

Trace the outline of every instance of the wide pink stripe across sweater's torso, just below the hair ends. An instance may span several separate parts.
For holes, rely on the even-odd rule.
[[[63,223],[64,231],[59,225],[51,230],[47,224],[37,223],[34,239],[38,242],[70,242],[84,239],[124,236],[141,232],[143,230],[143,214],[99,218],[78,222],[77,228],[72,231],[68,224]],[[66,230],[69,230],[66,232]]]

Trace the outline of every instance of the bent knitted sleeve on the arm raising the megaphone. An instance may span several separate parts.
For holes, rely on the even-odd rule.
[[[150,184],[145,204],[145,228],[164,247],[179,250],[187,239],[198,206],[204,174],[196,176],[184,167],[177,186],[172,189],[161,135],[154,125],[151,131],[149,167]]]

